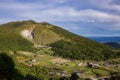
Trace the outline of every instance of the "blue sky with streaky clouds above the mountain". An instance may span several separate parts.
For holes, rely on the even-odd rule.
[[[0,24],[22,20],[82,36],[120,36],[120,0],[0,0]]]

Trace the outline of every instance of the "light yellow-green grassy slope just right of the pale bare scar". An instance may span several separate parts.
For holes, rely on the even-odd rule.
[[[51,25],[38,24],[34,29],[34,41],[39,45],[49,45],[61,39],[55,32],[51,31]]]

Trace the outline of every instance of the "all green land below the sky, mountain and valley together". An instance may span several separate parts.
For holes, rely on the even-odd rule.
[[[0,25],[1,80],[114,80],[119,68],[119,49],[49,23]]]

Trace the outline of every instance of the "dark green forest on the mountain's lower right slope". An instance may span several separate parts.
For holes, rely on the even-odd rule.
[[[93,43],[91,45],[93,45]],[[119,53],[112,51],[109,47],[108,49],[105,49],[106,47],[102,44],[99,44],[98,47],[91,45],[85,46],[85,44],[81,44],[80,41],[71,42],[64,40],[51,44],[52,50],[55,51],[54,55],[61,56],[63,58],[80,60],[107,60],[120,57]],[[97,48],[99,48],[99,50]]]

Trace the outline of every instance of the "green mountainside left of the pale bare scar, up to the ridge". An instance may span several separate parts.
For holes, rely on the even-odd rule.
[[[29,23],[32,22],[11,22],[0,25],[0,50],[34,51],[33,44],[19,34],[22,30],[20,27],[25,28]]]

